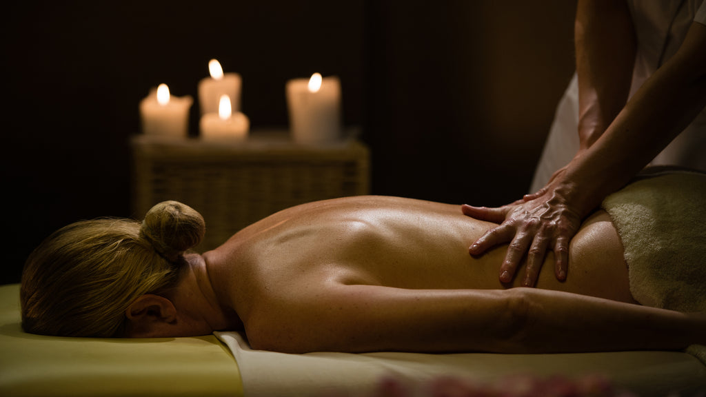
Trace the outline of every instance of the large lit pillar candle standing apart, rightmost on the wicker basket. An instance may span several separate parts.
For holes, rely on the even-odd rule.
[[[314,73],[308,81],[295,78],[287,81],[286,92],[294,141],[325,144],[341,140],[341,83],[337,77],[321,78]]]

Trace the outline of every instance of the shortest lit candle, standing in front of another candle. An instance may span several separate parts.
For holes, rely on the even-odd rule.
[[[201,116],[201,138],[207,141],[243,141],[249,129],[250,120],[245,114],[231,113],[228,95],[221,95],[218,114]]]

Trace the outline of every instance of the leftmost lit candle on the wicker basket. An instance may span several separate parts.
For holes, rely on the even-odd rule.
[[[140,101],[140,119],[145,135],[186,137],[189,135],[191,96],[169,95],[169,87],[160,84],[157,90]]]

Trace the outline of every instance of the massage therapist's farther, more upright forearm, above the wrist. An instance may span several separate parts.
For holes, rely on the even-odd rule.
[[[623,109],[635,64],[635,32],[625,1],[579,1],[575,21],[580,150]]]

